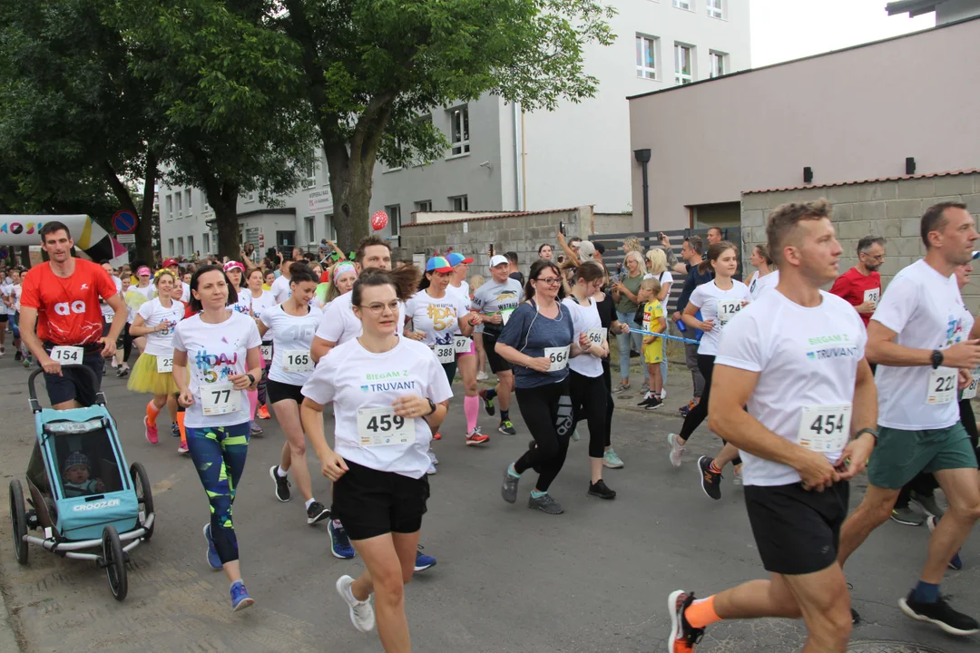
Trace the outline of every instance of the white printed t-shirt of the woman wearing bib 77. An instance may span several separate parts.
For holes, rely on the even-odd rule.
[[[194,403],[188,406],[184,417],[186,426],[201,429],[208,426],[233,426],[250,421],[248,394],[244,390],[232,390],[228,377],[247,372],[247,350],[261,344],[259,327],[252,318],[234,310],[220,324],[202,322],[200,314],[177,323],[173,334],[173,349],[187,352],[190,392],[194,396]],[[230,390],[231,396],[237,394],[238,410],[223,415],[205,415],[201,406],[201,393],[219,386]]]

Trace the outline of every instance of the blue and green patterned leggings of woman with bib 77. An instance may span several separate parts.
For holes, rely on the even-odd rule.
[[[238,539],[231,523],[231,504],[245,469],[249,423],[187,427],[187,448],[211,504],[211,539],[221,564],[238,559]]]

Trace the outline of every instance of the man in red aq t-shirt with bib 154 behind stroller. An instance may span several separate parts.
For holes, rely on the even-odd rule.
[[[24,277],[21,336],[44,369],[53,408],[91,405],[102,383],[103,358],[116,352],[126,307],[108,272],[72,256],[74,241],[67,226],[46,222],[40,234],[41,249],[50,260],[32,267]],[[100,298],[116,313],[105,337]],[[62,369],[62,363],[88,367],[96,383],[93,386],[90,375],[81,370]]]

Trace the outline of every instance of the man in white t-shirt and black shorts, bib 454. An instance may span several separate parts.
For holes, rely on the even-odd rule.
[[[851,599],[837,563],[848,479],[874,447],[874,379],[867,336],[851,304],[820,286],[843,252],[826,200],[769,216],[775,290],[725,326],[714,361],[711,431],[742,451],[746,508],[769,579],[696,600],[667,600],[674,653],[694,651],[723,619],[782,617],[807,625],[806,651],[839,651],[851,635]],[[748,410],[743,410],[743,406]]]

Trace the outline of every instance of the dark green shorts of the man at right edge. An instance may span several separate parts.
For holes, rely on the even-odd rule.
[[[946,429],[925,431],[883,426],[867,464],[867,478],[878,488],[901,490],[919,472],[976,466],[970,437],[959,422]]]

